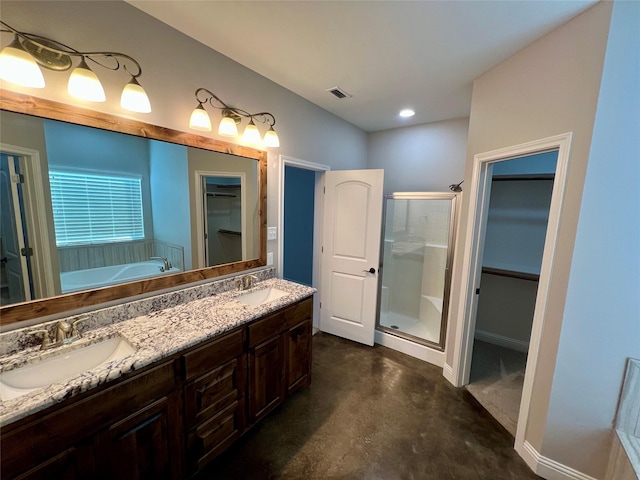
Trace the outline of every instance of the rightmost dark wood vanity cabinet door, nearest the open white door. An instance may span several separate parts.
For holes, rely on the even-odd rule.
[[[286,334],[287,395],[311,384],[311,319],[290,328]]]

